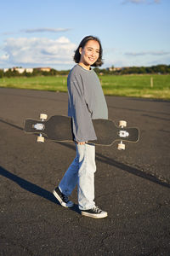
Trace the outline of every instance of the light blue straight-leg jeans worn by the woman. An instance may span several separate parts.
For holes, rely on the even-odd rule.
[[[72,190],[77,185],[78,207],[80,210],[88,210],[95,206],[94,203],[94,172],[95,146],[85,143],[76,143],[77,155],[71,166],[65,172],[64,177],[59,183],[59,189],[67,196],[71,195]]]

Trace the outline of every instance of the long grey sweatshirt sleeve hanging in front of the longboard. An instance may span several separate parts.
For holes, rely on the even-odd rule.
[[[72,117],[72,128],[74,139],[77,142],[86,142],[96,140],[94,125],[91,119],[91,113],[83,96],[82,83],[77,80],[70,81],[68,84],[69,106]]]

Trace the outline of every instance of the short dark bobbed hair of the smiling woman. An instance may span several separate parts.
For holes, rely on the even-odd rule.
[[[99,58],[97,61],[94,62],[93,65],[91,65],[92,67],[100,67],[102,64],[103,64],[103,61],[102,61],[102,55],[103,55],[103,49],[102,49],[102,46],[101,46],[101,43],[99,41],[99,38],[96,38],[94,36],[87,36],[85,38],[82,39],[82,41],[80,42],[77,50],[75,51],[75,55],[73,56],[73,59],[76,63],[79,63],[80,62],[80,58],[81,58],[81,54],[79,52],[79,49],[82,47],[82,49],[84,48],[84,46],[88,43],[89,40],[94,40],[94,41],[97,41],[99,43]]]

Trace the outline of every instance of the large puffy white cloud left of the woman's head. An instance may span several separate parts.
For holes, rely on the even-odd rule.
[[[8,38],[0,60],[10,66],[71,64],[76,44],[68,38]]]

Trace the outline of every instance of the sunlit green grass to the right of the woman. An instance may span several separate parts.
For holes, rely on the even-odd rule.
[[[170,75],[103,76],[99,79],[106,95],[170,99]]]

